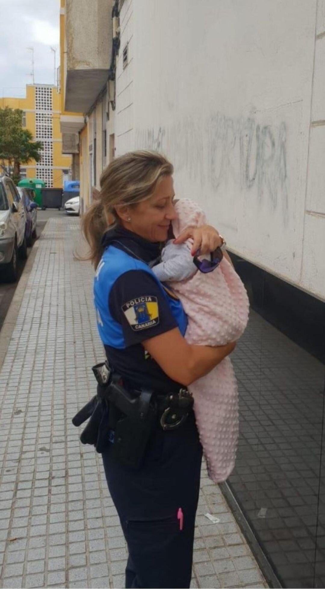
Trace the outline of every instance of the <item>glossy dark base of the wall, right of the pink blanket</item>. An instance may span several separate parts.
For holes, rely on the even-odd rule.
[[[255,311],[232,354],[240,438],[227,482],[283,586],[325,587],[325,305],[234,263]]]

